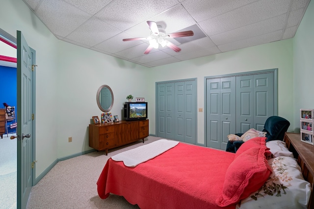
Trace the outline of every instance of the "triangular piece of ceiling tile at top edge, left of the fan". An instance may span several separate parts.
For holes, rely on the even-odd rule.
[[[92,2],[91,0],[64,0],[64,1],[74,5],[75,7],[79,8],[84,12],[94,15],[95,13],[103,9],[112,0],[92,0]]]

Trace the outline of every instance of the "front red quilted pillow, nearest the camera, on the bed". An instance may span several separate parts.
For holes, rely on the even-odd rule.
[[[222,194],[216,199],[218,206],[238,203],[262,187],[271,174],[271,168],[265,158],[265,149],[266,146],[251,147],[229,165]]]

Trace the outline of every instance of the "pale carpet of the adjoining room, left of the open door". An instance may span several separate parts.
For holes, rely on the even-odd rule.
[[[17,141],[0,138],[0,208],[16,209]]]

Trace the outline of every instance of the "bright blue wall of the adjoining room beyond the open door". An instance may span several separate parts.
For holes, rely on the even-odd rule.
[[[15,114],[17,108],[17,81],[16,81],[17,70],[16,68],[0,66],[0,108],[3,109],[5,102],[9,106],[15,107]],[[11,124],[8,122],[8,125]],[[8,133],[16,132],[16,129],[10,129],[8,127]],[[5,131],[6,133],[6,131]]]

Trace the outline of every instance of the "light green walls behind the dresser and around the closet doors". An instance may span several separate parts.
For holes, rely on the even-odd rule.
[[[313,3],[308,10],[314,13]],[[313,20],[313,15],[308,19]],[[90,49],[75,46],[56,39],[21,0],[2,0],[0,28],[16,37],[21,30],[28,45],[36,50],[36,177],[41,175],[56,159],[89,150],[88,124],[92,116],[100,116],[96,103],[98,88],[107,84],[114,93],[113,115],[122,118],[122,105],[126,96],[144,97],[149,102],[150,134],[156,134],[155,82],[197,78],[197,107],[204,108],[204,77],[235,72],[278,68],[279,116],[291,121],[292,130],[299,126],[294,119],[298,106],[293,102],[293,90],[304,83],[293,78],[305,59],[300,55],[293,59],[293,44],[303,48],[306,41],[292,39],[239,49],[231,52],[192,59],[180,63],[146,68]],[[4,21],[5,20],[5,21]],[[306,28],[311,21],[301,23]],[[303,25],[305,24],[305,25]],[[311,26],[313,35],[313,26]],[[301,30],[301,32],[302,32]],[[304,29],[306,31],[306,29]],[[298,35],[301,36],[302,32]],[[310,41],[313,42],[312,39]],[[303,42],[303,43],[299,43]],[[308,46],[311,48],[311,46]],[[296,48],[294,46],[294,48]],[[313,43],[312,43],[313,48]],[[313,49],[307,49],[307,56]],[[294,52],[296,53],[296,52]],[[313,54],[313,53],[312,53]],[[306,66],[313,80],[313,58],[307,58]],[[299,62],[298,62],[299,61]],[[312,65],[311,65],[312,64]],[[310,68],[312,67],[312,69]],[[307,73],[308,73],[307,71]],[[297,73],[294,73],[294,75]],[[311,81],[312,81],[311,80]],[[293,81],[297,84],[294,85]],[[307,94],[308,95],[308,94]],[[303,97],[300,97],[300,99]],[[298,97],[299,99],[299,97]],[[312,98],[313,99],[313,98]],[[306,100],[303,99],[303,100]],[[305,101],[307,102],[307,101]],[[313,104],[313,100],[311,102]],[[198,113],[198,142],[204,142],[204,112]],[[293,122],[295,122],[293,124]],[[68,137],[73,142],[68,142]]]

